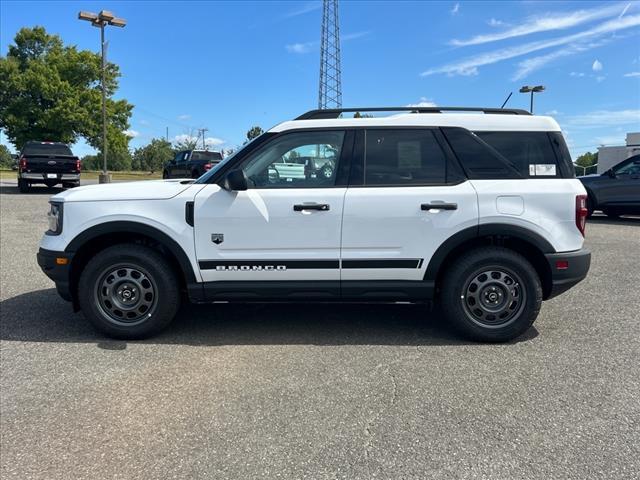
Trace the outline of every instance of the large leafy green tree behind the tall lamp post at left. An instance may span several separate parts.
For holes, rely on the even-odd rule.
[[[108,141],[114,143],[119,165],[123,139],[126,143],[122,132],[129,128],[133,105],[112,98],[118,88],[118,66],[107,63],[105,72]],[[100,150],[100,76],[100,55],[65,46],[43,27],[22,28],[7,56],[0,57],[0,128],[17,149],[28,140],[74,143],[84,137]]]

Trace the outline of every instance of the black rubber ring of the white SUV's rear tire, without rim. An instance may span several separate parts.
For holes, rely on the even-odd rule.
[[[479,268],[511,270],[525,292],[525,302],[511,323],[504,327],[483,327],[472,321],[463,301],[465,286]],[[473,340],[503,342],[526,332],[533,324],[542,303],[542,287],[538,274],[521,255],[508,249],[486,248],[461,257],[445,276],[442,288],[442,308],[450,322],[465,336]]]

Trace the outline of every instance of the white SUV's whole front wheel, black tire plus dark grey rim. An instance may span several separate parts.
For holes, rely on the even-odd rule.
[[[125,243],[101,251],[87,263],[78,302],[102,333],[142,339],[162,331],[175,317],[180,306],[176,285],[176,274],[158,252]]]

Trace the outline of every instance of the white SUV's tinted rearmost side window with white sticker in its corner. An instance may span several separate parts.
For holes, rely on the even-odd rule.
[[[562,176],[547,132],[475,132],[527,178]]]

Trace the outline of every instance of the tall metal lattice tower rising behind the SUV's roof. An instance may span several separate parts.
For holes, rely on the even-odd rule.
[[[342,107],[341,76],[338,0],[323,0],[318,108]]]

